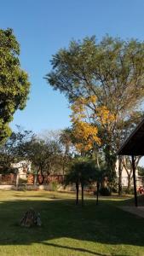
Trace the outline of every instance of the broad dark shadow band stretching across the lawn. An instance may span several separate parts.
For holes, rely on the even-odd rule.
[[[31,245],[37,242],[95,255],[84,248],[67,247],[49,241],[66,237],[112,245],[144,245],[144,218],[123,212],[115,207],[115,202],[108,200],[101,201],[99,206],[96,206],[95,201],[87,200],[84,207],[75,206],[72,199],[3,201],[0,207],[0,245]],[[43,222],[41,227],[20,227],[20,218],[30,207],[40,212]]]

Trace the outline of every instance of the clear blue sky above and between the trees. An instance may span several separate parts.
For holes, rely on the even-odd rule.
[[[14,114],[14,125],[35,132],[70,125],[68,102],[43,79],[49,60],[70,40],[108,33],[144,38],[143,0],[0,0],[0,27],[11,27],[20,42],[20,63],[32,83],[26,108]]]

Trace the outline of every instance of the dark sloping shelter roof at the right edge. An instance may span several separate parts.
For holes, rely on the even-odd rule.
[[[144,119],[126,139],[118,153],[121,155],[144,155]]]

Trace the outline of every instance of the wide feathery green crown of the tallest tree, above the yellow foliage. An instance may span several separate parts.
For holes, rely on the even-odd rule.
[[[99,104],[126,111],[144,96],[143,58],[144,44],[136,40],[107,36],[96,44],[95,37],[84,38],[53,55],[46,79],[72,101],[94,91]]]

